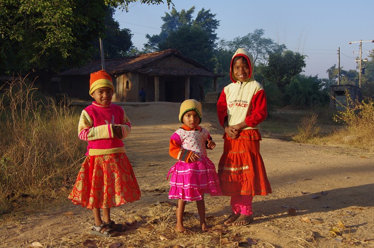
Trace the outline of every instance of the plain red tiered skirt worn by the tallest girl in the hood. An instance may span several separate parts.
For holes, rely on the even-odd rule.
[[[222,193],[267,195],[271,186],[260,154],[261,135],[257,129],[242,130],[238,138],[224,134],[224,153],[218,165]]]

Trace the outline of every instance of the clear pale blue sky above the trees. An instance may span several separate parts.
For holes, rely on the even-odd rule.
[[[193,19],[204,8],[216,14],[220,26],[219,39],[227,41],[263,29],[263,38],[285,44],[287,49],[307,56],[304,74],[327,78],[326,70],[338,66],[357,70],[355,61],[374,50],[374,0],[172,0],[180,12],[195,6]],[[129,12],[117,10],[114,19],[120,28],[128,28],[132,42],[142,50],[148,42],[146,34],[159,34],[165,12],[170,13],[166,0],[159,5],[130,3]],[[349,42],[353,42],[349,44]],[[105,46],[105,45],[104,45]]]

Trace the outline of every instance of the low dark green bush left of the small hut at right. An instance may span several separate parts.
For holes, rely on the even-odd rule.
[[[317,76],[297,75],[285,88],[285,104],[301,108],[325,105],[329,88]]]

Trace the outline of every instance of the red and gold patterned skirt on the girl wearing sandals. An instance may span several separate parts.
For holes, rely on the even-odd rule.
[[[74,204],[111,208],[139,200],[141,192],[125,153],[87,156],[69,194]]]

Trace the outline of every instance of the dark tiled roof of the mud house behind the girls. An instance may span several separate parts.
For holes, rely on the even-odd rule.
[[[148,67],[150,63],[169,56],[176,56],[190,64],[193,64],[195,67]],[[101,61],[90,62],[80,68],[73,68],[63,71],[56,76],[89,75],[90,73],[98,70],[101,70]],[[183,56],[176,49],[168,49],[150,54],[141,54],[132,57],[105,60],[105,70],[112,76],[121,75],[131,71],[139,71],[150,75],[221,76],[215,74],[202,64]]]

